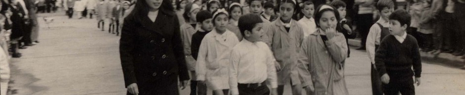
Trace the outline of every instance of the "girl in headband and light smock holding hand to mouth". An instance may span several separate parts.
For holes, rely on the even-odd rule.
[[[333,6],[317,8],[317,31],[302,42],[299,64],[309,64],[315,93],[313,95],[349,95],[344,79],[344,60],[347,43],[344,34],[337,32],[341,20]]]

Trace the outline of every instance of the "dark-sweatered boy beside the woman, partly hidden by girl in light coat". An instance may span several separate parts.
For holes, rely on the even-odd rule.
[[[200,26],[200,29],[192,35],[192,42],[190,44],[190,53],[192,57],[197,60],[197,54],[200,47],[200,43],[203,40],[203,37],[207,35],[210,31],[213,30],[213,23],[212,23],[212,14],[207,10],[201,10],[197,13],[195,19],[197,20],[197,25]],[[195,71],[190,72],[192,78],[195,77]],[[207,95],[207,85],[205,83],[200,83],[195,79],[192,79],[190,88],[191,88],[191,95]],[[195,89],[195,87],[197,87]],[[193,89],[192,89],[193,88]]]

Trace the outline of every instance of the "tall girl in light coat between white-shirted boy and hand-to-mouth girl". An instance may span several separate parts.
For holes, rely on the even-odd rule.
[[[304,40],[302,26],[292,17],[297,13],[295,0],[281,0],[279,13],[281,17],[271,22],[267,30],[267,44],[278,61],[278,94],[282,95],[284,85],[291,83],[292,94],[301,95],[302,87],[297,70],[298,48]]]

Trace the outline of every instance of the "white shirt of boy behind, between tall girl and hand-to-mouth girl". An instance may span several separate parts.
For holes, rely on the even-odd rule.
[[[317,24],[315,24],[315,19],[312,18],[307,18],[303,17],[297,23],[302,26],[302,29],[304,31],[304,38],[308,37],[310,34],[313,34],[315,31],[317,31]]]

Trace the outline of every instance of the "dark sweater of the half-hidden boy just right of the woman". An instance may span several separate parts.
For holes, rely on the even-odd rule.
[[[210,31],[200,32],[197,31],[192,35],[192,42],[190,44],[190,53],[195,60],[197,60],[198,49],[200,48],[200,43],[202,43],[203,37],[210,33]]]

